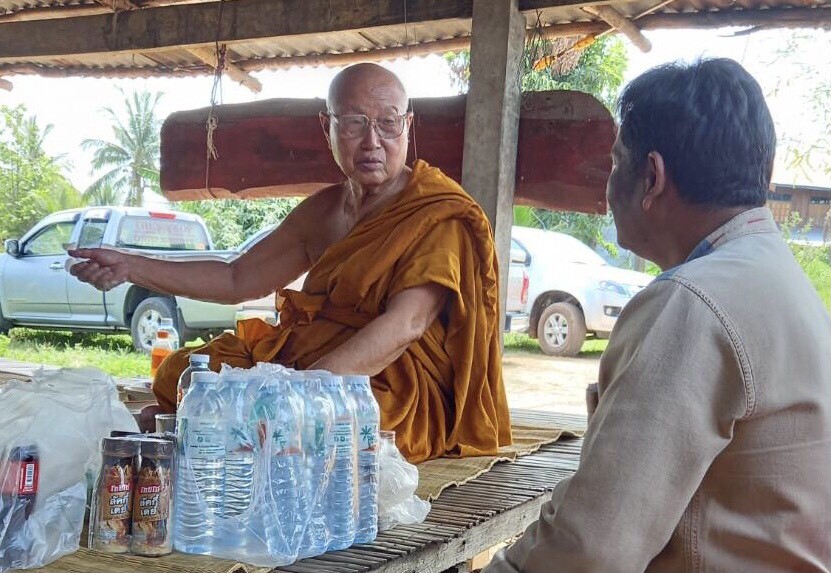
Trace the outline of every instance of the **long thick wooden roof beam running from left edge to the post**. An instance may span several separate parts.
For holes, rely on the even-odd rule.
[[[470,18],[471,2],[410,2],[406,21]],[[297,34],[323,34],[401,24],[401,0],[234,0],[223,6],[217,37],[218,2],[180,4],[111,15],[0,24],[0,58],[146,51],[175,46],[233,43]]]

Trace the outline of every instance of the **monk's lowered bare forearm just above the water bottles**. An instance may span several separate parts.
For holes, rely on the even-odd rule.
[[[408,288],[393,296],[387,310],[312,368],[338,374],[374,376],[421,338],[447,303],[448,290],[440,285]]]

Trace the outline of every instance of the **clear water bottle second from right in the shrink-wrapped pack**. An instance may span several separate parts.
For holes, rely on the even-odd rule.
[[[355,541],[355,510],[357,509],[355,444],[355,403],[347,397],[343,379],[329,372],[319,375],[323,390],[335,406],[333,431],[335,462],[326,488],[326,509],[329,529],[327,551],[346,549]]]

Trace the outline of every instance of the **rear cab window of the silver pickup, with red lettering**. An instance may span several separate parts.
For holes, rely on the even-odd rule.
[[[197,221],[128,215],[121,219],[116,246],[160,251],[206,251],[208,235]]]

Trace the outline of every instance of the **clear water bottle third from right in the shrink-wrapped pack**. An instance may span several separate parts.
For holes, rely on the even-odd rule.
[[[334,434],[335,405],[323,392],[320,378],[292,376],[292,382],[302,386],[304,400],[303,454],[305,482],[309,498],[308,524],[300,543],[299,558],[326,552],[329,531],[326,526],[326,487],[335,461]],[[302,382],[300,380],[302,379]]]

